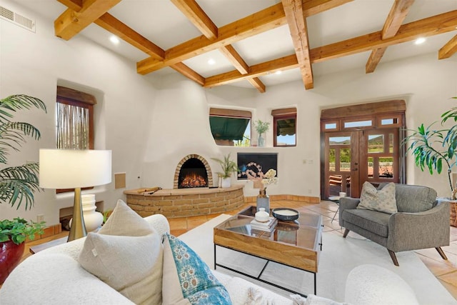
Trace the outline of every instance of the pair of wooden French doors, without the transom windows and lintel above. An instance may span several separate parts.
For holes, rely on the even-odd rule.
[[[325,133],[325,198],[346,192],[359,197],[370,181],[400,182],[399,129]]]

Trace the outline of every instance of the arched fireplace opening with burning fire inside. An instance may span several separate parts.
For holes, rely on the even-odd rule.
[[[184,162],[179,171],[178,189],[207,186],[208,174],[203,162],[196,158]]]

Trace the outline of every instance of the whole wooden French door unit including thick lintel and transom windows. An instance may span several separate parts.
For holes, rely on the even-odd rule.
[[[322,111],[321,198],[340,192],[358,198],[365,181],[375,186],[382,182],[406,183],[401,102]]]

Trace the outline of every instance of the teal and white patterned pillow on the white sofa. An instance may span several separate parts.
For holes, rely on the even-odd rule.
[[[164,234],[162,304],[231,304],[229,292],[183,241]]]

